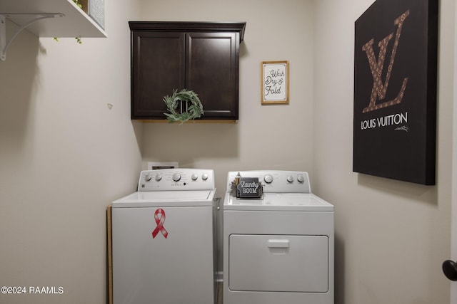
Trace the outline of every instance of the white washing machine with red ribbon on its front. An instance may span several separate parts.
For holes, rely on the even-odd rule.
[[[114,304],[214,304],[214,172],[140,174],[111,208]]]

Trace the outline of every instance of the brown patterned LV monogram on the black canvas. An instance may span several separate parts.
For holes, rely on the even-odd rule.
[[[393,98],[393,100],[389,100],[384,103],[380,103],[380,104],[376,105],[377,100],[383,100],[384,98],[386,98],[388,83],[389,83],[389,80],[391,79],[393,62],[395,61],[395,55],[396,55],[397,48],[398,48],[398,42],[400,41],[401,28],[403,27],[403,23],[405,22],[405,20],[408,16],[409,16],[409,10],[405,11],[403,14],[401,14],[401,16],[399,16],[397,19],[395,19],[395,21],[393,21],[393,24],[397,26],[397,31],[396,31],[396,35],[395,35],[395,41],[393,43],[391,61],[389,61],[389,63],[388,63],[386,80],[384,80],[384,82],[381,79],[381,75],[383,74],[384,59],[386,58],[387,46],[388,46],[389,41],[391,41],[391,39],[393,38],[393,32],[390,33],[388,36],[386,36],[386,38],[383,38],[383,40],[379,41],[379,43],[378,43],[379,55],[378,55],[377,61],[376,61],[376,56],[373,51],[374,39],[371,39],[370,41],[365,43],[365,45],[362,47],[362,51],[365,51],[366,58],[368,58],[371,75],[373,76],[373,88],[371,89],[370,104],[368,105],[368,107],[366,107],[362,110],[363,113],[390,107],[391,105],[398,105],[399,103],[401,103],[401,100],[403,99],[403,95],[404,95],[405,89],[406,89],[406,83],[408,83],[407,77],[403,79],[403,84],[401,85],[401,90],[398,93],[398,95],[396,96],[396,98]]]

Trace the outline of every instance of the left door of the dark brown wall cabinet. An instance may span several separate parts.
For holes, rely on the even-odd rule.
[[[131,118],[164,119],[164,96],[184,88],[184,33],[131,35]]]

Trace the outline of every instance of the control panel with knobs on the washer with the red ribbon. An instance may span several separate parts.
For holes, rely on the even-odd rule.
[[[141,171],[138,191],[214,190],[212,169],[157,169]]]

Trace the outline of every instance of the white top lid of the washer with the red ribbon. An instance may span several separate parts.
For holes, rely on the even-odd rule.
[[[212,206],[215,190],[134,192],[112,207]]]

